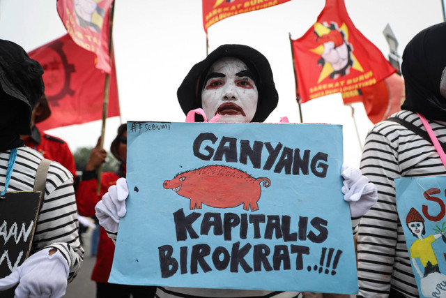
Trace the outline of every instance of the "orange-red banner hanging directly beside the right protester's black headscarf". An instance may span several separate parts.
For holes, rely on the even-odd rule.
[[[342,93],[344,104],[362,101],[367,117],[374,124],[401,110],[405,98],[404,80],[397,73],[373,86]]]

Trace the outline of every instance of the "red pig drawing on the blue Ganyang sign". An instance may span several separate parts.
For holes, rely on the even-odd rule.
[[[254,178],[234,167],[208,165],[196,170],[177,174],[166,180],[164,188],[171,188],[178,195],[190,199],[190,209],[201,209],[201,204],[216,208],[237,207],[259,210],[257,202],[261,195],[261,185],[269,187],[270,179]]]

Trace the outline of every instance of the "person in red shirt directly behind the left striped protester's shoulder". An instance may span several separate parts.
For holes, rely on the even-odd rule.
[[[64,140],[59,139],[59,137],[40,133],[36,126],[36,124],[44,121],[50,115],[51,110],[49,109],[47,96],[43,94],[31,114],[31,135],[21,135],[20,138],[24,140],[26,147],[31,147],[39,151],[43,157],[57,161],[66,167],[76,180],[75,158],[72,156],[68,144]]]

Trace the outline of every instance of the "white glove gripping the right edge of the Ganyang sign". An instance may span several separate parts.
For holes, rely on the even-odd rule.
[[[363,216],[378,200],[378,191],[367,177],[362,176],[361,170],[348,165],[342,165],[342,177],[344,178],[344,200],[349,202],[352,218]]]

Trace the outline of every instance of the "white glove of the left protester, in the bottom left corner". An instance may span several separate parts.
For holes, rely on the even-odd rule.
[[[56,253],[49,255],[55,249]],[[27,258],[8,276],[0,278],[0,290],[17,285],[15,298],[51,297],[65,295],[68,284],[68,263],[57,248],[43,248]]]

